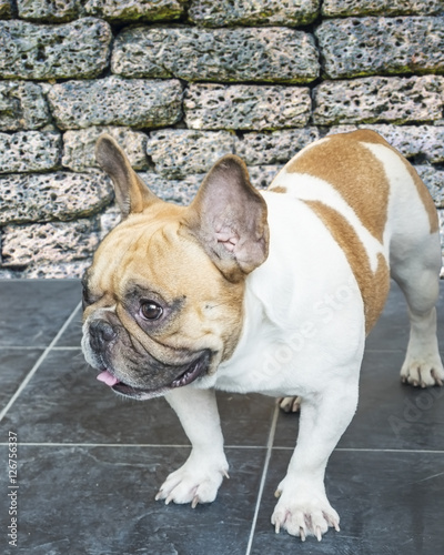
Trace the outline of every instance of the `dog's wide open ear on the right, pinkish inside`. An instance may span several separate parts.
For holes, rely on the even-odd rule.
[[[239,281],[269,254],[265,201],[233,154],[219,160],[204,179],[189,208],[188,225],[230,281]]]

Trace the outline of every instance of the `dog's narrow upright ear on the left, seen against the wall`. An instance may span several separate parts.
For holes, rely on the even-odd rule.
[[[114,184],[115,200],[123,219],[129,214],[142,212],[153,202],[162,202],[134,172],[127,154],[109,134],[99,137],[95,160]]]

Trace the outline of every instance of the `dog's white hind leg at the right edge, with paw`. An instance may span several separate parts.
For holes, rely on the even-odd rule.
[[[391,249],[391,272],[407,301],[411,324],[401,379],[414,386],[443,385],[444,369],[436,336],[441,268],[438,235],[431,233],[413,242],[412,238],[406,241],[404,235],[398,241],[396,244],[395,239],[395,249]]]

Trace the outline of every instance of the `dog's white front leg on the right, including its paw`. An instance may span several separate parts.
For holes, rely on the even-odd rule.
[[[357,383],[336,384],[302,400],[296,448],[275,494],[280,500],[271,522],[276,533],[285,528],[302,541],[307,535],[321,541],[330,526],[340,529],[340,517],[325,495],[324,474],[356,404]]]

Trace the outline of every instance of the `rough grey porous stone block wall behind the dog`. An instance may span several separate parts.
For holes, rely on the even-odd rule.
[[[262,188],[375,129],[444,229],[443,108],[444,0],[0,0],[0,276],[81,275],[118,221],[103,131],[186,203],[228,152]]]

